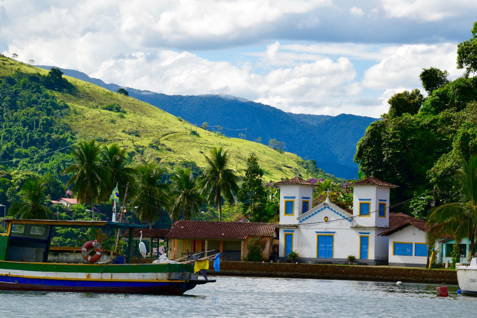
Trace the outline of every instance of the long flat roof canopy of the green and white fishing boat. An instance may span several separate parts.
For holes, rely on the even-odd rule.
[[[116,228],[149,228],[143,224],[124,224],[111,221],[65,221],[65,220],[34,220],[34,219],[3,219],[12,224],[41,224],[63,227],[111,226]]]

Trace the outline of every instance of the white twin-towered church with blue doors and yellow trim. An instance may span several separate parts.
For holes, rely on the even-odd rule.
[[[298,176],[275,185],[280,186],[279,259],[296,251],[308,263],[340,264],[353,255],[362,264],[388,264],[389,236],[380,234],[389,230],[389,191],[396,185],[374,176],[356,181],[353,210],[328,198],[310,209],[316,184]]]

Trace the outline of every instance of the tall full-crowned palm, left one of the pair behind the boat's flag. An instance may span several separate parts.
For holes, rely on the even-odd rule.
[[[72,191],[78,202],[91,205],[91,211],[94,211],[93,204],[101,200],[100,192],[104,191],[111,180],[111,171],[100,160],[100,146],[94,139],[74,145],[71,154],[76,159],[76,164],[61,172],[63,175],[74,174],[65,187],[73,185]]]

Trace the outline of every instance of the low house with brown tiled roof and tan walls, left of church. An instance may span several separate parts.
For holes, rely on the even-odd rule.
[[[264,236],[269,242],[263,251],[263,258],[268,260],[275,226],[251,222],[177,221],[167,234],[168,257],[178,259],[208,251],[209,255],[222,253],[221,260],[241,261],[247,257],[250,237]]]

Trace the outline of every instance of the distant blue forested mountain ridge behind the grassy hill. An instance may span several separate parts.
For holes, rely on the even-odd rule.
[[[39,65],[45,69],[52,66]],[[121,86],[106,84],[90,78],[83,72],[62,69],[65,75],[99,85],[116,92]],[[247,101],[229,95],[166,95],[126,87],[130,96],[155,105],[190,123],[203,122],[221,126],[223,133],[231,137],[246,134],[247,140],[268,144],[270,139],[283,143],[283,149],[314,159],[324,171],[342,178],[357,176],[353,163],[356,143],[370,123],[377,119],[349,114],[338,116],[286,113],[262,103]],[[217,131],[217,128],[215,128]]]

